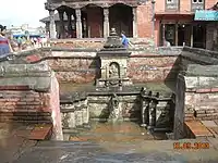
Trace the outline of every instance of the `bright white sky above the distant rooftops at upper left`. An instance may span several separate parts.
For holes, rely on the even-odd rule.
[[[49,15],[45,10],[46,0],[1,0],[0,24],[5,26],[44,26],[39,20]]]

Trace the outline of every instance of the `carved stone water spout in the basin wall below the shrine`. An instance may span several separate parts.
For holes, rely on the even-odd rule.
[[[112,93],[109,102],[110,102],[110,104],[109,104],[109,110],[110,110],[109,121],[117,122],[121,118],[121,109],[120,109],[120,102],[119,102],[118,96],[116,93]]]

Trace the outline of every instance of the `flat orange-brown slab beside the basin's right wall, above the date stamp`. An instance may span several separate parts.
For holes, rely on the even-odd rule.
[[[187,129],[197,137],[214,137],[214,135],[207,129],[207,127],[201,121],[189,121],[185,122]]]

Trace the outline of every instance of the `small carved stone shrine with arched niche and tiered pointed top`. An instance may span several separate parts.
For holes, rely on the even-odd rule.
[[[132,84],[126,76],[129,52],[121,43],[120,37],[114,28],[111,29],[110,36],[97,55],[100,59],[101,76],[97,79],[97,86],[123,86]]]

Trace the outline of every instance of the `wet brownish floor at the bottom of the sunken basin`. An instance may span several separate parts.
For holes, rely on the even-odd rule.
[[[70,131],[70,130],[69,130]],[[144,140],[164,140],[165,133],[148,134],[134,122],[99,123],[92,122],[88,129],[74,129],[65,140],[93,142],[141,142]],[[70,131],[70,133],[71,133]],[[74,133],[75,131],[75,133]]]

